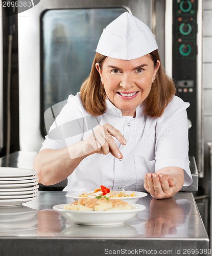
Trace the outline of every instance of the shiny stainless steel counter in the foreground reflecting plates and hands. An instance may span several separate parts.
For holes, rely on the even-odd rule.
[[[163,200],[148,195],[137,202],[146,209],[117,226],[75,225],[64,219],[52,207],[73,201],[65,194],[39,191],[36,200],[0,207],[0,255],[209,255],[192,193]]]

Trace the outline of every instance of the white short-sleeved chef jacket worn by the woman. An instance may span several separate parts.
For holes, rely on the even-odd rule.
[[[123,159],[120,161],[111,154],[93,154],[86,157],[67,178],[64,191],[93,190],[100,185],[113,190],[145,191],[145,174],[155,173],[167,166],[184,169],[184,186],[190,185],[192,176],[189,168],[186,113],[189,105],[175,96],[161,117],[146,116],[140,105],[136,109],[136,117],[133,118],[122,116],[121,110],[107,99],[106,112],[96,120],[100,124],[111,124],[123,134],[126,145],[121,145],[115,139]],[[45,137],[41,150],[64,148],[84,140],[93,132],[93,123],[97,124],[88,123],[89,118],[96,117],[85,111],[80,93],[76,96],[69,95],[67,104],[51,126],[49,135]],[[50,136],[51,132],[57,131],[56,128],[59,129],[59,136]]]

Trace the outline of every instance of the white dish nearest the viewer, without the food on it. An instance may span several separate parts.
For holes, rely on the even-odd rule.
[[[66,204],[53,206],[54,210],[60,211],[68,220],[80,225],[120,225],[132,219],[137,215],[138,211],[144,210],[146,207],[141,204],[131,204],[134,209],[131,210],[105,210],[105,211],[79,211],[66,210]]]

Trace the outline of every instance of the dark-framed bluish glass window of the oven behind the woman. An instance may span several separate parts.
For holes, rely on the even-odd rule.
[[[43,114],[75,95],[90,73],[100,35],[125,8],[48,10],[41,17],[41,132]]]

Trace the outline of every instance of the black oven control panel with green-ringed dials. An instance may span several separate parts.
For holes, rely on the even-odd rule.
[[[190,102],[187,115],[191,156],[197,156],[197,1],[173,0],[172,76],[178,96]]]

